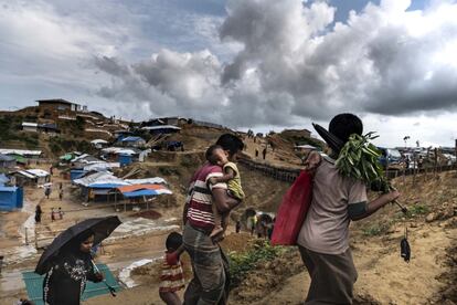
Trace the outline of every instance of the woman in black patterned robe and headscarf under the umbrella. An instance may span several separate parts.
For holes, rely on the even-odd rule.
[[[79,305],[86,282],[100,282],[94,271],[91,248],[94,233],[86,231],[60,250],[43,281],[43,299],[50,305]]]

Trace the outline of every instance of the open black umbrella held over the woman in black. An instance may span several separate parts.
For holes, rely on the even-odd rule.
[[[94,232],[94,244],[100,243],[104,239],[120,224],[120,220],[115,217],[91,218],[70,227],[59,234],[46,248],[35,267],[35,273],[45,274],[51,269],[52,259],[59,254],[60,250],[68,245],[74,238],[86,232]]]

